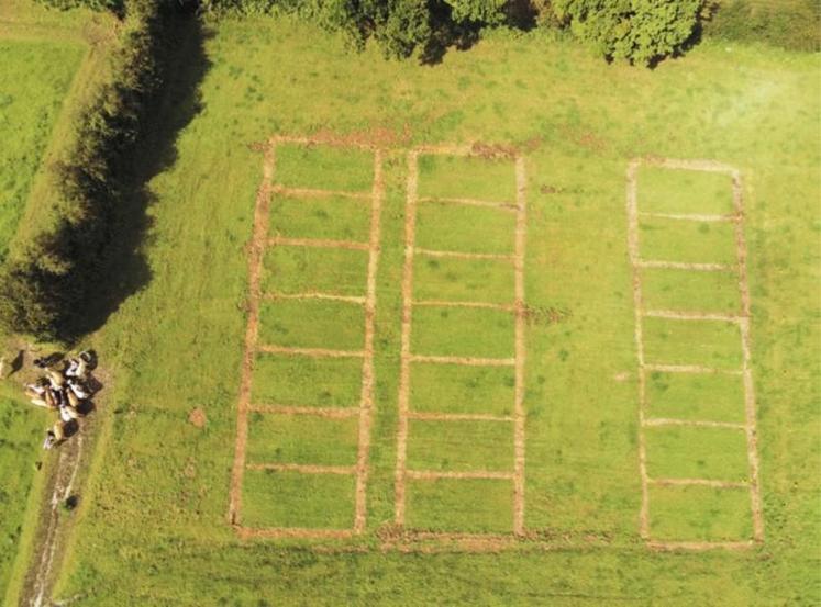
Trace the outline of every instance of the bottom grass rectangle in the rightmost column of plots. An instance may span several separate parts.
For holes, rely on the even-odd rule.
[[[667,541],[743,541],[753,535],[750,492],[706,486],[650,487],[650,533]]]

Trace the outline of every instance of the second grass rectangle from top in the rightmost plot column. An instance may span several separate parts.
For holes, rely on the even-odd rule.
[[[731,223],[641,217],[639,243],[641,258],[651,261],[728,266],[737,261]]]

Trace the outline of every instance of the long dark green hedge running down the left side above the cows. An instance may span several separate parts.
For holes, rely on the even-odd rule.
[[[126,9],[113,78],[82,111],[73,149],[55,168],[55,224],[0,269],[0,326],[7,330],[73,339],[78,319],[99,296],[121,178],[159,86],[160,7],[132,0]]]

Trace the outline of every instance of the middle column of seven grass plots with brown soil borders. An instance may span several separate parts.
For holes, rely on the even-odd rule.
[[[400,528],[407,529],[411,537],[419,539],[511,538],[511,531],[515,536],[522,536],[524,533],[525,420],[523,404],[525,358],[523,266],[526,226],[524,159],[522,157],[504,158],[495,160],[496,164],[492,165],[497,172],[506,171],[502,175],[510,180],[509,183],[501,182],[499,186],[500,188],[509,187],[511,200],[508,201],[461,198],[451,195],[451,192],[447,196],[420,195],[420,166],[429,160],[454,164],[484,161],[469,147],[419,147],[410,151],[408,156],[395,522]],[[506,165],[510,169],[509,173],[504,168]],[[477,175],[480,173],[481,171]],[[488,178],[486,173],[485,181],[492,183],[496,179],[495,175]],[[433,189],[454,189],[458,188],[459,183],[466,182],[470,184],[468,189],[473,190],[486,187],[477,186],[465,176],[451,175],[445,171],[444,179],[441,179]],[[463,213],[463,217],[467,214],[498,212],[498,225],[502,226],[502,231],[500,238],[496,241],[493,252],[488,252],[488,247],[492,245],[490,239],[479,238],[467,243],[464,235],[450,232],[442,237],[445,243],[441,248],[450,249],[451,243],[456,240],[461,245],[454,248],[463,250],[440,250],[439,247],[418,246],[420,211],[432,212],[434,207],[437,212],[445,214]],[[475,217],[475,220],[480,218]],[[507,225],[502,220],[508,222]],[[474,223],[487,224],[487,222],[478,221]],[[423,226],[441,231],[443,224],[444,229],[447,231],[448,224],[441,221],[433,221]],[[502,245],[499,245],[499,240]],[[466,244],[469,244],[470,251],[464,250]],[[496,301],[490,301],[493,297],[490,296],[487,285],[482,288],[479,281],[478,285],[474,283],[470,286],[474,291],[473,295],[477,295],[475,299],[469,292],[454,295],[451,300],[435,297],[433,295],[436,290],[431,290],[430,286],[423,292],[432,296],[414,297],[414,260],[417,263],[433,268],[451,262],[476,265],[477,260],[479,263],[495,263],[502,268],[502,272],[513,273],[513,292],[510,293],[508,302],[498,295]],[[424,289],[421,283],[418,286]],[[501,296],[504,296],[503,293]],[[446,325],[441,330],[431,329],[430,324],[425,326],[426,323],[422,322],[419,328],[412,331],[414,312],[429,322],[442,322],[443,318],[446,325],[457,321],[466,322],[464,327],[466,330],[459,333]],[[490,327],[480,319],[482,314],[495,315],[493,330],[497,331],[498,339],[493,337],[497,334],[492,333]],[[425,329],[428,340],[414,335],[415,341],[413,341],[412,333],[421,335],[424,333],[422,329]],[[508,347],[513,356],[489,356],[503,353],[499,351],[501,347],[499,341],[507,341],[504,337],[507,331],[510,331]],[[430,338],[431,333],[434,333],[436,337]],[[478,344],[478,346],[471,345],[471,339],[473,344]],[[415,346],[412,346],[412,342]],[[445,351],[415,351],[417,348],[435,349],[431,344],[439,344],[439,347],[444,348]],[[476,352],[478,356],[470,356],[476,351],[475,347],[485,348],[485,351]],[[458,351],[461,348],[466,351]],[[490,407],[485,411],[465,411],[458,407],[457,411],[443,411],[442,408],[435,411],[435,403],[420,411],[411,402],[413,400],[411,372],[414,368],[418,369],[420,381],[422,368],[456,374],[469,370],[477,373],[490,373],[509,369],[514,384],[512,402],[501,411],[498,406],[495,411],[489,411]],[[430,376],[428,374],[428,378]],[[425,435],[423,429],[429,434]],[[471,443],[475,448],[470,447]],[[443,446],[445,452],[440,453],[439,459],[436,454],[431,453],[434,448],[442,449]],[[475,461],[465,463],[473,456],[484,458],[481,464]],[[421,463],[412,467],[413,458]],[[506,485],[508,488],[492,491]],[[430,518],[424,522],[419,522],[420,517],[424,518],[424,516],[417,510],[418,504],[414,498],[428,501],[426,513]],[[465,522],[467,519],[473,520],[473,526]],[[428,524],[429,521],[431,525]]]

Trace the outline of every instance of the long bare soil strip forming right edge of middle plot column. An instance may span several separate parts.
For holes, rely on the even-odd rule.
[[[524,535],[524,456],[525,437],[524,424],[526,414],[524,411],[524,368],[528,348],[525,344],[525,330],[528,328],[526,305],[524,301],[524,248],[526,244],[528,215],[526,215],[526,191],[528,177],[525,173],[524,158],[515,159],[515,192],[517,192],[517,221],[515,221],[515,257],[513,259],[514,290],[515,290],[515,394],[513,405],[513,532],[517,536]]]

